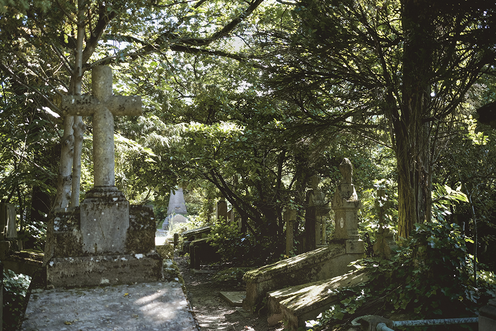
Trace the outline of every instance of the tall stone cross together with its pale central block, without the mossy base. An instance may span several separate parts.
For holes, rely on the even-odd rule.
[[[112,69],[92,69],[92,96],[66,96],[64,115],[93,116],[94,188],[81,203],[83,252],[93,255],[122,254],[129,228],[129,201],[116,187],[114,116],[141,115],[141,97],[112,94]]]

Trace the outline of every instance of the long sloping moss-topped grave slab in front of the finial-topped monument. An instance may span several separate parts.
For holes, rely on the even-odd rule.
[[[348,265],[362,257],[363,252],[347,254],[344,242],[333,241],[329,246],[250,270],[243,276],[247,282],[243,308],[253,311],[267,292],[345,274],[352,270]]]

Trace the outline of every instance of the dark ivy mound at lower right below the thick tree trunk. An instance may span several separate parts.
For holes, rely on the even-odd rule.
[[[418,319],[473,316],[495,296],[495,275],[481,273],[484,277],[474,287],[466,241],[470,239],[461,236],[456,225],[416,224],[416,231],[390,261],[374,258],[356,263],[369,281],[339,290],[339,304],[322,314],[321,323],[364,312],[407,312]]]

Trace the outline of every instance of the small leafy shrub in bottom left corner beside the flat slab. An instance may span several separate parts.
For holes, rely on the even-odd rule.
[[[3,330],[17,330],[27,300],[31,277],[3,270]]]

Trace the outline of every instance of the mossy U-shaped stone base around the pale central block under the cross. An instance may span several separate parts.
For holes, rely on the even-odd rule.
[[[109,279],[111,284],[161,279],[162,261],[155,252],[152,206],[129,207],[124,247],[114,255],[83,250],[79,215],[79,207],[54,212],[51,241],[47,242],[50,247],[44,259],[49,285],[98,285],[102,279]]]

